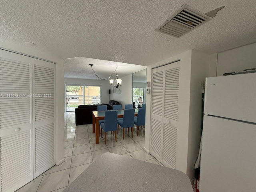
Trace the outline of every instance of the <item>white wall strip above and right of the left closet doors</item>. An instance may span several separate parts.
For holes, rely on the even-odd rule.
[[[38,51],[34,47],[14,44],[4,39],[0,39],[0,47],[56,62],[56,164],[62,162],[64,160],[64,60],[50,53]]]

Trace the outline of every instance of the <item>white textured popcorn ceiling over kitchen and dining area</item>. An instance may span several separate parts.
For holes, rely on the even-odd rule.
[[[154,31],[183,4],[225,8],[180,38]],[[118,65],[122,77],[189,49],[212,54],[256,42],[255,10],[255,0],[0,0],[0,38],[71,58],[66,77],[95,78],[88,64],[103,78]]]

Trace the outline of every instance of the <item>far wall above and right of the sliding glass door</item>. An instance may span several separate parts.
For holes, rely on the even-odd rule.
[[[101,102],[102,103],[108,103],[109,100],[111,100],[111,98],[112,98],[112,87],[109,83],[109,80],[90,80],[90,79],[65,78],[65,84],[66,85],[100,86],[101,87]],[[110,95],[108,94],[109,89],[111,90]]]

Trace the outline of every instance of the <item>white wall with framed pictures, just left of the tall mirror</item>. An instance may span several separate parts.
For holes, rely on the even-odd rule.
[[[118,101],[122,104],[124,109],[125,104],[132,104],[132,74],[122,77],[121,94],[113,93],[112,100]],[[112,93],[112,90],[111,90]]]

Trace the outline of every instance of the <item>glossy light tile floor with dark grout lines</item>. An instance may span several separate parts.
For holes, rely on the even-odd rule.
[[[127,130],[123,140],[121,133],[119,132],[117,136],[117,142],[115,142],[113,135],[107,133],[106,145],[104,144],[103,138],[99,139],[99,144],[95,144],[95,134],[92,133],[92,124],[76,126],[75,113],[66,112],[64,127],[65,162],[59,166],[53,166],[16,192],[62,192],[98,156],[105,152],[162,166],[158,160],[143,150],[145,139],[143,128],[142,131],[139,131],[139,136],[137,136],[135,128],[133,138]]]

